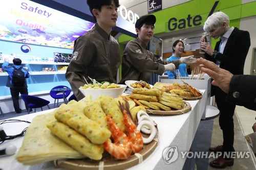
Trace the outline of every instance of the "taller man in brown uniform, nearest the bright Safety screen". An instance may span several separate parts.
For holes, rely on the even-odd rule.
[[[72,60],[66,72],[66,79],[77,100],[84,98],[79,91],[79,87],[86,84],[84,78],[87,82],[91,82],[89,76],[98,82],[117,83],[120,65],[120,47],[111,36],[111,30],[117,22],[119,1],[88,0],[87,4],[96,23],[92,30],[75,41]]]

